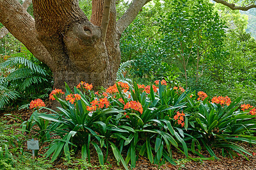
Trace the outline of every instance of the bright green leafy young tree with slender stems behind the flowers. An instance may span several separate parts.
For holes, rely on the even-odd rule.
[[[169,58],[182,65],[186,83],[188,65],[194,65],[197,81],[200,64],[221,47],[225,26],[209,3],[195,1],[188,6],[188,1],[184,0],[173,1],[172,5],[175,6],[173,12],[158,19],[159,33],[163,35],[161,47]]]

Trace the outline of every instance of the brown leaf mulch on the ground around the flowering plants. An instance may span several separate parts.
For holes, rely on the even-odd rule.
[[[6,117],[4,114],[13,114],[15,116],[19,116],[22,120],[28,120],[30,115],[32,114],[31,110],[22,109],[20,111],[9,111],[9,112],[0,112],[0,120],[8,121],[8,124],[15,125],[15,123],[20,123],[19,121]],[[19,127],[17,127],[19,128]],[[26,145],[26,144],[24,144]],[[256,145],[255,144],[246,144],[243,143],[244,148],[256,152]],[[44,154],[45,150],[42,146],[39,150],[39,153]],[[26,146],[24,146],[26,148]],[[25,150],[26,151],[26,150]],[[28,151],[28,150],[27,150]],[[139,157],[138,161],[136,162],[136,167],[134,169],[256,169],[256,157],[248,156],[249,160],[246,160],[243,156],[234,157],[234,159],[230,157],[222,157],[218,152],[216,155],[220,160],[200,160],[200,161],[193,161],[189,160],[179,151],[173,149],[173,158],[177,160],[177,166],[173,166],[170,163],[166,163],[163,166],[158,166],[156,164],[150,164],[150,161],[146,157]],[[210,157],[209,154],[205,151],[203,154],[206,157]],[[191,157],[196,157],[195,155],[189,154]],[[76,153],[74,155],[76,158],[81,158],[81,153]],[[75,160],[74,160],[75,161]],[[99,160],[97,158],[97,152],[95,149],[92,148],[91,150],[91,164],[92,166],[99,166]],[[65,160],[59,159],[56,160],[53,164],[54,169],[73,169],[74,165],[65,164]],[[108,169],[124,169],[122,164],[118,166],[116,164],[115,157],[113,153],[109,153],[108,160],[106,163],[106,167]],[[100,169],[100,167],[92,167],[90,169]]]

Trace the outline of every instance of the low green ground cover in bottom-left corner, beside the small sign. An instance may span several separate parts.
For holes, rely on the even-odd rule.
[[[17,126],[14,125],[14,126]],[[45,158],[31,158],[31,153],[24,151],[24,144],[28,140],[26,136],[20,134],[7,125],[6,121],[0,122],[0,169],[49,169],[52,167],[49,160]]]

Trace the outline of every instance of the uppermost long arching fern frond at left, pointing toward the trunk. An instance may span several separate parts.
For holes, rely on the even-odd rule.
[[[42,69],[40,66],[36,65],[29,59],[22,58],[22,57],[9,58],[3,63],[0,63],[0,68],[7,68],[7,67],[13,67],[13,66],[19,66],[19,65],[28,66],[28,68],[30,68],[32,72],[40,73],[42,75],[47,75],[45,70]]]

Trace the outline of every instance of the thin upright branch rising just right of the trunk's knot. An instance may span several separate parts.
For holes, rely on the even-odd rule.
[[[107,30],[108,30],[108,23],[109,23],[109,13],[110,13],[110,6],[111,0],[105,0],[102,12],[102,20],[100,27],[102,28],[102,40],[105,42]]]

